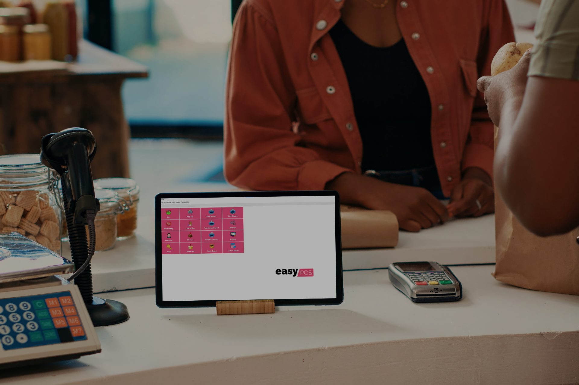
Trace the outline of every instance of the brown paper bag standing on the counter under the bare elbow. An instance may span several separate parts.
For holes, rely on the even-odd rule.
[[[494,202],[494,277],[513,286],[579,295],[579,229],[541,238],[523,227],[499,194]]]

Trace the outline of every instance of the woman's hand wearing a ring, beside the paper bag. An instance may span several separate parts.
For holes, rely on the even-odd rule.
[[[446,206],[451,216],[479,217],[494,212],[494,188],[490,176],[482,169],[468,168]]]

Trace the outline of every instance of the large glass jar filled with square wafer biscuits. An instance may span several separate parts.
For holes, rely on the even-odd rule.
[[[0,232],[19,232],[61,254],[57,180],[38,154],[0,156]]]

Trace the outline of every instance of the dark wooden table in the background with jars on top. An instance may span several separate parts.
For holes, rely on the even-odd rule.
[[[129,177],[121,88],[148,70],[86,41],[79,52],[75,63],[0,62],[0,155],[38,153],[42,136],[83,127],[97,139],[93,177]]]

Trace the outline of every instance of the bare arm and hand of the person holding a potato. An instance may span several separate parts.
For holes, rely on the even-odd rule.
[[[563,234],[579,225],[579,81],[527,80],[529,61],[479,80],[500,127],[494,180],[530,231]]]

